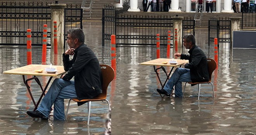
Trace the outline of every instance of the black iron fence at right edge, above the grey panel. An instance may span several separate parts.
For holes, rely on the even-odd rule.
[[[244,28],[256,29],[256,9],[242,10],[242,29]]]

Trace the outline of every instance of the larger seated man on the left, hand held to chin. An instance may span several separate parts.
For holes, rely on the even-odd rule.
[[[64,99],[90,99],[102,93],[102,75],[99,61],[87,47],[82,29],[67,32],[69,49],[62,54],[66,75],[55,79],[36,111],[27,111],[33,118],[47,119],[54,104],[54,119],[65,120]],[[69,60],[69,56],[73,59]],[[74,81],[70,81],[74,77]]]

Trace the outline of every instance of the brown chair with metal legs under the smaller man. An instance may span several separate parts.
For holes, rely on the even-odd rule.
[[[208,61],[208,73],[209,73],[209,81],[206,81],[206,82],[195,82],[195,83],[192,83],[192,82],[186,82],[185,83],[185,87],[184,87],[184,91],[183,91],[183,95],[185,93],[185,89],[186,89],[186,84],[189,83],[189,84],[198,84],[198,100],[199,100],[199,96],[200,96],[200,87],[201,87],[201,84],[202,83],[208,83],[208,84],[211,84],[212,88],[213,88],[213,83],[211,83],[211,74],[213,73],[213,71],[216,69],[216,61],[214,61],[214,59],[210,59],[208,58],[207,59]],[[213,98],[214,98],[214,89],[213,89]]]

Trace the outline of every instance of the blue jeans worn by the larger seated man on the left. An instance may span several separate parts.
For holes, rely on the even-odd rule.
[[[77,98],[74,81],[57,78],[53,81],[37,110],[48,118],[54,104],[54,119],[65,120],[64,99],[70,98]]]

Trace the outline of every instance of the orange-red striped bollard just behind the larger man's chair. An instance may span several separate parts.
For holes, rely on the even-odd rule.
[[[111,35],[111,67],[114,69],[114,80],[116,80],[116,35]]]

